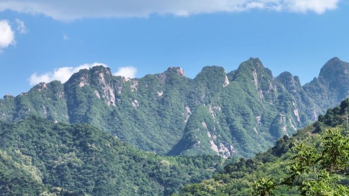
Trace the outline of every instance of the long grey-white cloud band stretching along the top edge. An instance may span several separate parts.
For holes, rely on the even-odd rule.
[[[149,14],[241,12],[250,9],[321,14],[336,9],[340,0],[2,0],[0,11],[44,14],[58,20],[90,17],[146,17]]]

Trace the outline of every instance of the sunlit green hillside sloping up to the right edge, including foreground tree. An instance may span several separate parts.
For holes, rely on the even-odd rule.
[[[348,195],[348,106],[346,99],[318,122],[279,139],[267,152],[240,158],[212,179],[173,195]]]

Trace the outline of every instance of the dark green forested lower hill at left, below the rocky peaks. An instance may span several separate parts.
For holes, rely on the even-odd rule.
[[[218,156],[142,152],[87,124],[0,123],[0,195],[169,195],[221,168]]]

